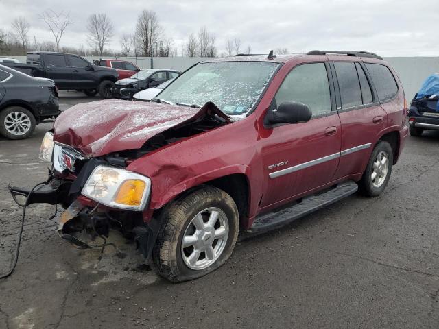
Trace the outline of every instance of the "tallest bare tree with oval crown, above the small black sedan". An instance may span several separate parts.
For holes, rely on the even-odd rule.
[[[156,12],[143,10],[137,19],[135,32],[137,45],[144,56],[154,55],[154,46],[158,44],[161,36],[161,27],[158,24]]]

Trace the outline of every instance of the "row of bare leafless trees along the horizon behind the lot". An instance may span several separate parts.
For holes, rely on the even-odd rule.
[[[86,21],[86,42],[88,47],[62,47],[61,41],[69,26],[73,25],[70,12],[45,10],[39,16],[53,37],[53,41],[37,42],[29,37],[31,25],[23,16],[12,22],[10,30],[0,29],[0,56],[25,55],[27,51],[61,51],[76,53],[80,56],[187,56],[216,57],[233,56],[239,53],[250,54],[252,47],[243,47],[241,39],[228,39],[224,49],[219,53],[216,36],[206,27],[191,33],[180,49],[174,39],[166,36],[162,25],[153,10],[143,10],[137,17],[132,32],[119,35],[119,51],[108,49],[115,40],[115,25],[105,13],[91,14]],[[276,53],[287,53],[287,49],[276,49]]]

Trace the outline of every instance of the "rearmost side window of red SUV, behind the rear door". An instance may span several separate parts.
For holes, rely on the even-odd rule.
[[[398,85],[387,66],[366,63],[366,69],[368,69],[373,84],[377,88],[380,101],[387,101],[395,97],[396,93],[398,93]]]

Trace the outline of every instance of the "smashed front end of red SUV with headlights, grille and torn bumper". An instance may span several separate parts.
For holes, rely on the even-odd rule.
[[[51,162],[49,177],[30,195],[25,188],[10,186],[19,206],[60,204],[66,210],[58,234],[80,249],[103,247],[109,230],[115,229],[126,239],[134,239],[145,258],[150,256],[158,232],[152,213],[146,210],[151,182],[126,170],[128,158],[83,156],[69,145],[54,142],[51,132],[45,134],[39,157]],[[21,202],[23,197],[26,201]],[[89,239],[82,239],[84,235]],[[97,237],[104,244],[95,243]]]

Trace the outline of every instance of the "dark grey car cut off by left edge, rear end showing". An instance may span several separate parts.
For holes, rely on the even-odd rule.
[[[35,125],[58,114],[58,91],[52,80],[0,65],[0,134],[27,138]]]

